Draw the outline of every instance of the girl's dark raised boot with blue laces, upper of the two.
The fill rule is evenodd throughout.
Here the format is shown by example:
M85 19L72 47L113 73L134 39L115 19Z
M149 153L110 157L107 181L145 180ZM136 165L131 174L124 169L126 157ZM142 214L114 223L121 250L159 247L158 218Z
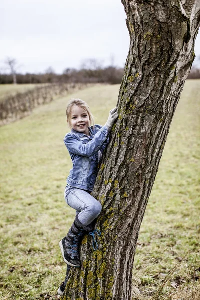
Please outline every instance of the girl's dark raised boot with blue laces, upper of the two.
M85 226L76 216L67 236L65 236L59 242L60 250L65 263L71 266L80 267L78 246L82 241L83 236L87 232L91 231L92 228L93 223Z

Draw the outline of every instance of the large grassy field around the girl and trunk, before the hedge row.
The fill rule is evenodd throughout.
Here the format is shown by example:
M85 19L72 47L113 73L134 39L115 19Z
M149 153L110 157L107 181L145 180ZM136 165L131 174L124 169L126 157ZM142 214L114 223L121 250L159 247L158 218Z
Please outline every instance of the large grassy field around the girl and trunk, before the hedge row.
M82 98L104 124L118 91L76 91L0 127L0 299L57 298L66 269L58 243L75 216L63 198L71 168L65 106ZM200 298L199 94L200 81L187 80L141 225L133 299Z

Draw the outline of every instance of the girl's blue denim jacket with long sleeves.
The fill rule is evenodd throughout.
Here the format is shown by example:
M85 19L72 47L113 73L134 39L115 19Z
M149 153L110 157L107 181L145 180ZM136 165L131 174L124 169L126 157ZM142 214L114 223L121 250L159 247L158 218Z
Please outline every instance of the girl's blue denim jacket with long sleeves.
M64 137L73 168L66 181L68 185L92 191L98 172L98 163L109 142L108 128L95 125L89 127L90 136L72 129Z

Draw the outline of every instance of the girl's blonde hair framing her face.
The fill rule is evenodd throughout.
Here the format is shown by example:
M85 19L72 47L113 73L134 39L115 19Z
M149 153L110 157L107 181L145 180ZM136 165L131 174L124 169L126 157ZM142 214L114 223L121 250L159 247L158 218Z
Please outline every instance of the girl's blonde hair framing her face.
M93 115L92 115L87 103L81 99L71 99L66 106L66 117L67 117L67 123L68 123L69 127L71 128L71 111L72 111L73 106L75 106L75 105L84 109L88 113L90 124L92 123L94 125Z

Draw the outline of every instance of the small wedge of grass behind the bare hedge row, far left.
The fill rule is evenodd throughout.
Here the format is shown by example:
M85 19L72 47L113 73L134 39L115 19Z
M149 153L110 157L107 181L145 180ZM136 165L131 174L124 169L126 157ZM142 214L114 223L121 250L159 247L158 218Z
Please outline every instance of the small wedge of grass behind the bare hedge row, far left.
M18 92L25 92L38 84L0 84L0 100L4 99L6 96L15 95ZM41 84L39 84L41 86Z

